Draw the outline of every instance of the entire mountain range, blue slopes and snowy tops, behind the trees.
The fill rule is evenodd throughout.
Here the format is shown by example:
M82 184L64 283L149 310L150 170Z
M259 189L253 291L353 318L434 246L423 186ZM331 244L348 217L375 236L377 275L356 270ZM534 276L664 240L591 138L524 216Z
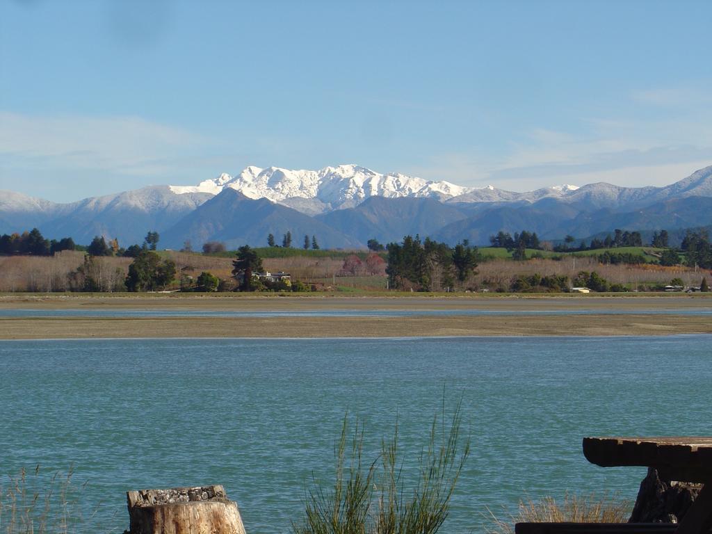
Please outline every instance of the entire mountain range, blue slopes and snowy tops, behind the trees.
M37 227L46 237L87 244L96 235L127 246L158 231L160 246L223 241L230 248L317 236L320 246L356 248L368 239L406 234L451 244L488 244L498 231L535 231L541 239L584 238L624 230L652 231L712 224L712 166L666 187L604 182L533 192L461 187L357 165L318 171L247 167L197 186L152 186L57 204L0 192L0 234Z

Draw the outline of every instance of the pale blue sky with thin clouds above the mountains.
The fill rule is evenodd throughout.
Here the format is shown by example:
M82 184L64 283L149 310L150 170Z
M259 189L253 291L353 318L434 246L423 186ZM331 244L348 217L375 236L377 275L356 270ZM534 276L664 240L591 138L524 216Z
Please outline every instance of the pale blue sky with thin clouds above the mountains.
M0 0L0 189L247 165L525 191L712 164L712 2Z

